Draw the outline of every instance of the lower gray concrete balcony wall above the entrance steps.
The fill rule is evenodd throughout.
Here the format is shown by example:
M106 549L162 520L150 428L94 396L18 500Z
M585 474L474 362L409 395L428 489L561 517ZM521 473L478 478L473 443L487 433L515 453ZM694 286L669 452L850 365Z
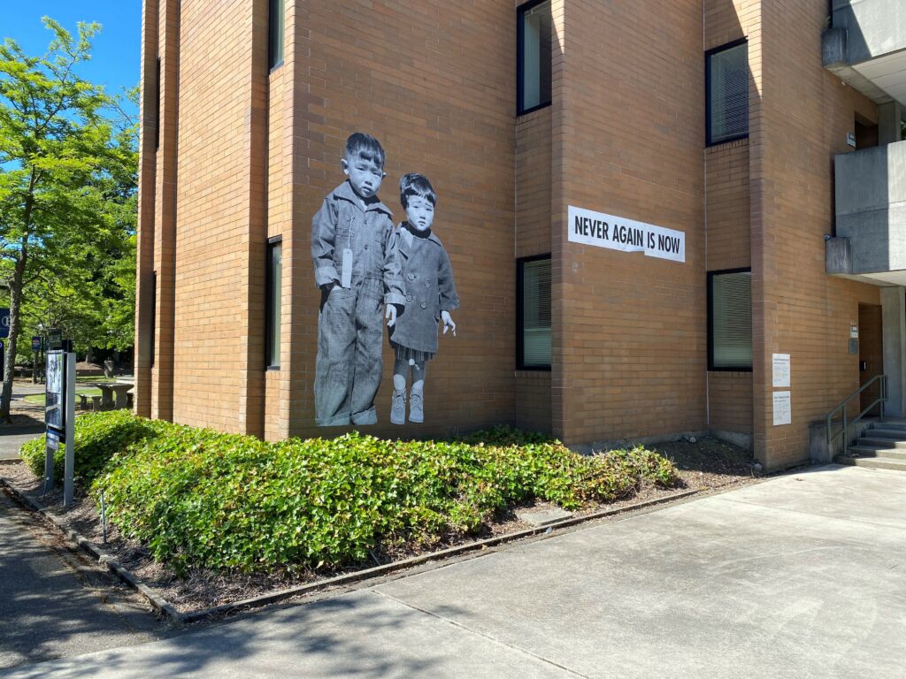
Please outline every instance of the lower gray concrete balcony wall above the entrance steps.
M852 273L906 270L906 141L834 158L836 235Z

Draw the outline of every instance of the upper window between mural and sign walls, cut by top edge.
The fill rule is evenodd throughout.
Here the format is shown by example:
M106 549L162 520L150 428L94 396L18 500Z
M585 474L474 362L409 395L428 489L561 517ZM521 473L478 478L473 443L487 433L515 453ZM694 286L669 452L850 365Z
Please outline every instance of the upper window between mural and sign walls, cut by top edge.
M518 114L551 103L551 0L518 9Z

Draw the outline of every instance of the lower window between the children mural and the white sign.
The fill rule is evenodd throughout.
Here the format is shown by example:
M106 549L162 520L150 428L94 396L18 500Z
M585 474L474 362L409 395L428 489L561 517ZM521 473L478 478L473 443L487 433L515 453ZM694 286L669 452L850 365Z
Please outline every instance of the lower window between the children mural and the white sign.
M551 256L516 262L516 368L551 369Z

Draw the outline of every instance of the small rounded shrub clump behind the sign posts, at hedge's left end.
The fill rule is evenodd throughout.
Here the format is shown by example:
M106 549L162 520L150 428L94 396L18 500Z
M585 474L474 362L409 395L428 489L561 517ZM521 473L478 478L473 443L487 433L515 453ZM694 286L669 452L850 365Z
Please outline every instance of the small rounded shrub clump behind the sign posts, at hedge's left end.
M161 423L134 416L129 410L111 410L103 413L88 413L79 416L75 426L74 462L75 481L88 485L101 473L113 454L125 450L129 445L156 435ZM29 469L38 476L44 473L44 436L25 442L19 449ZM53 454L53 477L63 478L65 446Z

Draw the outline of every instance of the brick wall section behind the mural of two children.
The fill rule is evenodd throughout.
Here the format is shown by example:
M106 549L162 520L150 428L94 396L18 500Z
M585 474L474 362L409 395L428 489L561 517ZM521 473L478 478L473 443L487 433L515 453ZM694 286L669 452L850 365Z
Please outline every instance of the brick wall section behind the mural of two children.
M298 0L294 18L294 240L291 260L291 435L313 426L318 292L311 219L343 179L340 158L356 130L381 140L381 199L404 215L398 182L426 174L438 192L435 232L453 265L462 309L458 337L440 339L425 385L426 423L390 426L392 355L384 352L378 435L437 435L512 422L516 333L513 5L431 0L382 5ZM439 21L438 17L446 17Z

